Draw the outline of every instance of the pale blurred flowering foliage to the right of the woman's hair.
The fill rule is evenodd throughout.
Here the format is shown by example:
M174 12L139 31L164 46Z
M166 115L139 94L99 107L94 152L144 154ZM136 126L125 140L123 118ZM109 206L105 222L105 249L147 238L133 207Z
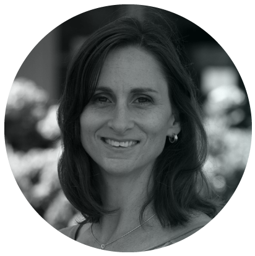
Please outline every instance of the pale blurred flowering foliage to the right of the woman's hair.
M209 137L204 170L226 202L243 177L251 149L251 115L245 111L249 101L243 89L236 84L223 84L211 90L204 102Z

